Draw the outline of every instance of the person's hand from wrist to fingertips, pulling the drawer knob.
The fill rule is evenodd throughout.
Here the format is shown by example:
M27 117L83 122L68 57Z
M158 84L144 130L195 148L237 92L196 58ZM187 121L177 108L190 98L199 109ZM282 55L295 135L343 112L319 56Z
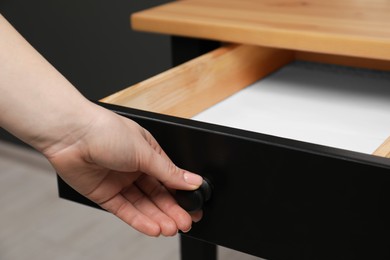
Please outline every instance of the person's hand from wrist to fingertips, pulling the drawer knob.
M202 212L191 219L170 189L196 189L202 178L176 167L135 122L100 107L94 111L93 122L43 151L61 178L144 234L190 230Z

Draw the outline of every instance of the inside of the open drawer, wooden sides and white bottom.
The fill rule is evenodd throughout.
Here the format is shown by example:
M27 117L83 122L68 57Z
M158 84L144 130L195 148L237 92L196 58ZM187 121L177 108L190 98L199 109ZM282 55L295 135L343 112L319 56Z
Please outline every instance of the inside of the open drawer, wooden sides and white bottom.
M382 60L229 45L101 101L387 157L389 70Z

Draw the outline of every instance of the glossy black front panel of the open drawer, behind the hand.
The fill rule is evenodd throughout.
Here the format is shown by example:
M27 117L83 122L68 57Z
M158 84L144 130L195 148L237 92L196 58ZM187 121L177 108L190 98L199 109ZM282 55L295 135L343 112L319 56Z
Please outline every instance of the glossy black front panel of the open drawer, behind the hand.
M388 159L101 105L137 121L179 167L212 181L213 197L189 236L267 259L390 257ZM59 189L82 202L61 181Z

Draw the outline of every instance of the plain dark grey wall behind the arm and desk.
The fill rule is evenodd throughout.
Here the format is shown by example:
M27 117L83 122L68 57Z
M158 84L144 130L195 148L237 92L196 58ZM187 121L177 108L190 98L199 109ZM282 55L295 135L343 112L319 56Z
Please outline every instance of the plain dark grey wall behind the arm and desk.
M3 0L0 12L81 93L97 100L171 66L169 37L135 32L129 19L165 2ZM15 142L5 131L0 139Z

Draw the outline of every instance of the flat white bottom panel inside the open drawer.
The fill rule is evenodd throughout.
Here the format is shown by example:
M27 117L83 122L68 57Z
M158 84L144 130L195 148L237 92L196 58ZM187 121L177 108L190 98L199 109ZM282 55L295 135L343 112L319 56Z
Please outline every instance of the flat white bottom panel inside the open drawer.
M372 154L390 135L390 73L294 62L193 119Z

